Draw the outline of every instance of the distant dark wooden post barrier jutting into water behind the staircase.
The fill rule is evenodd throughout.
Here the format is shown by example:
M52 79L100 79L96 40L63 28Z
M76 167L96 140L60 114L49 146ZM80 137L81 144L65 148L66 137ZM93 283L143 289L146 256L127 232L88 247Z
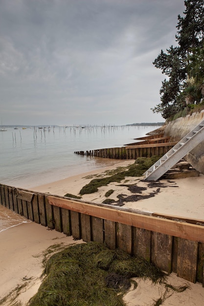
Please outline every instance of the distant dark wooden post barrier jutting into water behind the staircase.
M75 154L96 156L114 159L136 159L137 157L151 157L153 155L164 155L176 145L177 142L153 143L143 145L130 145L121 148L98 149L91 151L77 151Z

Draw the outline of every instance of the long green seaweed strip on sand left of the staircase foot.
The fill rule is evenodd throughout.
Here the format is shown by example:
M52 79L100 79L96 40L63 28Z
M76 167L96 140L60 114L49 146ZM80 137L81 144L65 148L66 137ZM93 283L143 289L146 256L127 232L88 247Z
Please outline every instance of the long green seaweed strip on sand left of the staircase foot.
M138 157L134 164L124 168L119 167L112 172L112 175L102 177L102 178L94 178L91 182L85 185L80 190L80 195L92 194L98 191L99 187L107 186L111 182L121 182L121 180L125 179L126 176L142 176L143 173L148 170L154 163L159 160L161 156L152 156L150 158L147 157ZM122 168L122 169L121 169Z

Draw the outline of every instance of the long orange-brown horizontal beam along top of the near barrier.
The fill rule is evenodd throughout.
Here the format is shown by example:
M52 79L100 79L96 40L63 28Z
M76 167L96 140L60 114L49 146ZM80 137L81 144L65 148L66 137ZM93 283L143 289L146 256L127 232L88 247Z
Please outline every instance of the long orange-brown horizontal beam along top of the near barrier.
M71 211L144 228L146 230L170 236L204 242L204 226L201 225L145 216L134 212L124 211L122 207L120 209L113 209L105 204L103 204L103 206L102 204L88 204L82 201L75 201L56 196L47 196L47 198L51 205L66 208Z

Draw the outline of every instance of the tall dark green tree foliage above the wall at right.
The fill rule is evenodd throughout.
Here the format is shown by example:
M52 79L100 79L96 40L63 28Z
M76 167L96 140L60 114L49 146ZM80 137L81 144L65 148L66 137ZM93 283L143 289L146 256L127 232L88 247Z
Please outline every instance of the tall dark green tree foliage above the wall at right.
M204 95L204 1L184 4L183 17L178 16L178 46L161 50L153 62L167 79L160 89L161 103L152 110L165 119Z

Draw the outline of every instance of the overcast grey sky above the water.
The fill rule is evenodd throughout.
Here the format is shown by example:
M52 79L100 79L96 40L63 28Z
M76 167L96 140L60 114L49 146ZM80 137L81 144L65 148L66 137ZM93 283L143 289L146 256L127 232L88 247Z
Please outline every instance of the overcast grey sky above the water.
M0 0L3 125L160 122L183 0Z

